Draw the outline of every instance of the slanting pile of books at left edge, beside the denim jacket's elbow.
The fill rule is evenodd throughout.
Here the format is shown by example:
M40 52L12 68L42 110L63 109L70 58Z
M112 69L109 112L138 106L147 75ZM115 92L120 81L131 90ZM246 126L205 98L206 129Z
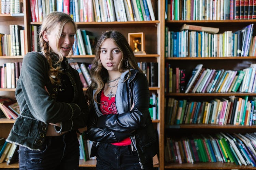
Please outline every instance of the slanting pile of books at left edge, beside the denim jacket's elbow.
M0 118L16 120L19 113L19 105L17 102L6 97L0 98Z

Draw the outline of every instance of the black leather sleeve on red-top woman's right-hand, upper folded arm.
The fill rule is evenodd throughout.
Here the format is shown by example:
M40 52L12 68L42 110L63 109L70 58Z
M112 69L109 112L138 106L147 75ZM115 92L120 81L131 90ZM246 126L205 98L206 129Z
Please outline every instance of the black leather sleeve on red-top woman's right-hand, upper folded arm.
M133 109L117 115L100 116L97 122L99 128L118 132L132 132L140 127L145 127L146 119L149 116L150 96L148 82L143 73L136 74L130 89L132 89Z

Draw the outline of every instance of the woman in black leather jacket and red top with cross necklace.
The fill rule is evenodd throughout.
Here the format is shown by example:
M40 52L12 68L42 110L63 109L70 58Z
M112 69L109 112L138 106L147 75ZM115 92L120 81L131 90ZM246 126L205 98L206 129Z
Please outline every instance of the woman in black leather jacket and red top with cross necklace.
M147 78L117 31L103 33L95 54L87 136L94 141L90 156L97 157L96 169L151 170L158 147Z

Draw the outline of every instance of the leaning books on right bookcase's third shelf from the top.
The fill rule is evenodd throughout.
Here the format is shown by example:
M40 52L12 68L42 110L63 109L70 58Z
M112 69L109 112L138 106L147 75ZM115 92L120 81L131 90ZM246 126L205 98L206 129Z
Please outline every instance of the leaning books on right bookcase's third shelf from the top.
M255 92L256 65L243 70L205 69L199 64L192 71L185 93Z

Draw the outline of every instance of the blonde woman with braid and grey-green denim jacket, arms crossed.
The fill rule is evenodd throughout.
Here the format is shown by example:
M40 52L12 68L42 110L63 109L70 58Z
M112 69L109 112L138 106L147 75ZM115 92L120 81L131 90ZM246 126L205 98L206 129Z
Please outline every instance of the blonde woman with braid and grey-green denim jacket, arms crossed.
M40 28L41 53L25 55L15 97L20 115L7 141L19 145L20 170L73 170L79 166L76 131L87 124L88 106L79 74L67 61L76 24L61 12Z

